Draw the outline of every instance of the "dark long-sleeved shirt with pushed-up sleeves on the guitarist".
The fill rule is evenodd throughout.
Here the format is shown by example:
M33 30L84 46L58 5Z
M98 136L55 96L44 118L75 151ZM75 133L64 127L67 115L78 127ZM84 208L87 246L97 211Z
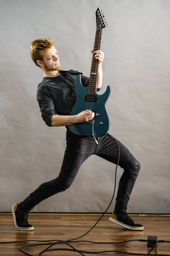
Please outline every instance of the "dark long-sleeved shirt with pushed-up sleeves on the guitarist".
M52 126L53 115L70 115L77 102L75 79L79 72L76 70L61 70L59 72L60 76L44 77L37 88L37 101L41 116L48 126ZM89 78L87 76L82 75L81 81L83 86L88 86Z

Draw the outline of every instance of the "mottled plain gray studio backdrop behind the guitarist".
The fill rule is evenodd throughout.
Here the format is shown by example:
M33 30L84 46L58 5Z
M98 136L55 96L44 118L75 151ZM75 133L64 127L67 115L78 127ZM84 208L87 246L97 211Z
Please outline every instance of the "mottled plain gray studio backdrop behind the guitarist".
M98 6L108 22L100 93L111 86L110 134L141 163L128 212L170 212L169 0L0 0L0 212L57 177L65 151L65 127L48 127L41 117L43 73L30 42L50 37L62 69L89 76ZM103 212L114 174L115 165L92 156L70 189L34 212Z

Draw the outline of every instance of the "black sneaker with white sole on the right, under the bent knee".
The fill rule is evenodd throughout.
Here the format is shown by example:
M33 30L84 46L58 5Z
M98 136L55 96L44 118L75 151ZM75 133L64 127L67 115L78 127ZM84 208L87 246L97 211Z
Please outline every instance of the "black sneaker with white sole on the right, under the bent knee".
M117 213L113 211L111 217L109 218L109 221L112 221L129 230L144 229L144 226L142 226L141 224L135 224L134 221L129 217L127 213Z

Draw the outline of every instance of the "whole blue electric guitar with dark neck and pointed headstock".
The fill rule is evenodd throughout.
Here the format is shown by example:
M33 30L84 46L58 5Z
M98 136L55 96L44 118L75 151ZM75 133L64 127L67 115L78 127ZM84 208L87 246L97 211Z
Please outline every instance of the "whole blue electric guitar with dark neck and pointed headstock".
M105 16L98 8L96 10L96 35L94 41L94 51L100 49L102 29L106 28L107 26L104 17ZM109 117L105 105L108 97L110 96L111 87L108 85L105 93L102 95L98 95L96 93L98 64L99 60L96 60L93 54L88 87L82 86L81 75L76 77L75 87L77 92L77 102L70 113L70 115L73 116L86 109L90 109L95 113L95 116L88 122L75 123L68 126L71 132L74 134L81 136L93 136L94 139L95 137L106 134L110 127Z

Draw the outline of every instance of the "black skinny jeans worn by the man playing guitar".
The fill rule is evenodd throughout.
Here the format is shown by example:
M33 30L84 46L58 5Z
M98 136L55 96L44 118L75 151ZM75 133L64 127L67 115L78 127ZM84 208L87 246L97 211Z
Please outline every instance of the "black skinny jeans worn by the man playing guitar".
M99 143L98 145L93 137L82 137L67 131L67 146L58 177L42 183L20 204L20 209L28 213L41 201L68 189L73 183L82 163L92 154L116 164L119 156L116 142L107 134L102 137L96 137L96 140ZM124 172L119 181L115 210L126 212L130 194L139 174L140 163L122 143L118 140L116 141L120 147L119 166L124 169Z

